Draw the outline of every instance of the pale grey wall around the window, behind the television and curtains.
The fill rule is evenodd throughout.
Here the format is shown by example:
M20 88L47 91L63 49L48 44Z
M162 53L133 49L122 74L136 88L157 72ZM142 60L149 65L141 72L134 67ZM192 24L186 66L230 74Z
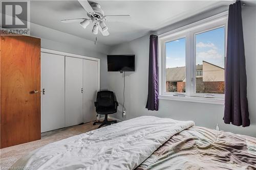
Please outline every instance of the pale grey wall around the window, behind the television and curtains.
M200 18L200 17L197 17ZM170 117L179 120L194 120L197 126L215 129L219 124L221 130L256 137L256 10L255 7L243 8L243 27L245 40L246 69L248 79L248 103L250 112L250 127L237 127L223 123L224 105L203 104L193 102L180 102L159 100L159 111L148 111L145 109L147 99L148 78L148 53L149 35L114 46L111 54L135 54L135 72L126 72L125 77L125 110L126 116L121 116L123 77L118 72L109 72L109 88L115 91L119 102L118 113L114 116L118 119L130 119L142 115L154 115L159 117ZM191 22L188 21L186 23ZM183 22L185 23L185 22ZM175 28L175 26L169 27ZM166 30L166 29L165 29ZM170 30L169 30L170 31ZM161 31L158 31L161 32Z

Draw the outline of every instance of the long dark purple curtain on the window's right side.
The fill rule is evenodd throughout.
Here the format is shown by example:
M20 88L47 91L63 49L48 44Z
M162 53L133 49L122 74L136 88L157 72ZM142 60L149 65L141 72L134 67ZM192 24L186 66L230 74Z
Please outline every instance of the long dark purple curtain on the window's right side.
M244 38L241 3L229 6L227 30L227 58L225 68L224 122L249 126L245 70Z

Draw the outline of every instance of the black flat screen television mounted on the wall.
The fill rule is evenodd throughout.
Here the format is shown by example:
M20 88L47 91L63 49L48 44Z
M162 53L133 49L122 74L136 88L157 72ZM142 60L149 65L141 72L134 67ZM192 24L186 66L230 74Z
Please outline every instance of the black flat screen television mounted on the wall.
M135 71L135 55L108 55L108 71Z

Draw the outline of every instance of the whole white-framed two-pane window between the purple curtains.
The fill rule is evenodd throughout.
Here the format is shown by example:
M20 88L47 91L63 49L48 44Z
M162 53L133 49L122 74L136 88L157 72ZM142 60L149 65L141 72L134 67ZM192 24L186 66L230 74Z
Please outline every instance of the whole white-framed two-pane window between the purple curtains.
M224 103L226 22L225 15L159 36L160 99Z

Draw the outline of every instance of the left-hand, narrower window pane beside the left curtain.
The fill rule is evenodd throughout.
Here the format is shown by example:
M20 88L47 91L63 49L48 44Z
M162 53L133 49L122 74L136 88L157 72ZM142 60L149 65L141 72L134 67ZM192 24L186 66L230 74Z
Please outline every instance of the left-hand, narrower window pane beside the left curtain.
M186 92L186 39L165 43L166 92Z

